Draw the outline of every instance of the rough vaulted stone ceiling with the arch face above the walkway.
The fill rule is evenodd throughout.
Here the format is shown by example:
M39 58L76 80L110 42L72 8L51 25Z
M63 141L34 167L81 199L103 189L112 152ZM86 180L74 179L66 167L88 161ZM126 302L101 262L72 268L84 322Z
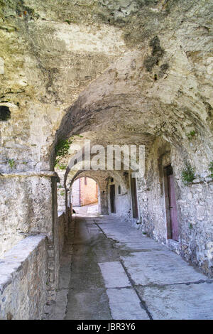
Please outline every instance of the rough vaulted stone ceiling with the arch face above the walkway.
M212 1L1 0L0 9L4 169L9 158L19 171L53 168L55 144L72 134L147 147L163 136L212 154Z

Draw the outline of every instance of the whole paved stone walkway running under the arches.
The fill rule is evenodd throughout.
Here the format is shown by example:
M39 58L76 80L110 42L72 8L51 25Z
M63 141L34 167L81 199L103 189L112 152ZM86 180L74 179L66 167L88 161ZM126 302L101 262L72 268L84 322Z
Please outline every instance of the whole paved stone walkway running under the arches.
M70 247L52 318L213 318L213 280L124 221L76 217Z

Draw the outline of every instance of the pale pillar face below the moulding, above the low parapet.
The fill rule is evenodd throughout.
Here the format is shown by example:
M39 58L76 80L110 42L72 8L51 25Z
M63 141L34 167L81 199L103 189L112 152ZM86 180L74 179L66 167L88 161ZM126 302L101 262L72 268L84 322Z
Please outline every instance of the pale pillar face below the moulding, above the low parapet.
M0 179L0 193L0 256L28 235L52 237L50 178L6 175Z

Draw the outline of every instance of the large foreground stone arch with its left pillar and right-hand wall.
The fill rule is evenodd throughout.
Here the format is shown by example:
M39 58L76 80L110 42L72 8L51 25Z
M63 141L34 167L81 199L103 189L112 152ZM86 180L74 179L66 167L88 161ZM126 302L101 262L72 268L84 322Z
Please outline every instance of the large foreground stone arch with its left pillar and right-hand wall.
M42 8L40 1L28 1L29 6L3 2L3 252L29 235L47 235L47 294L48 301L54 300L59 262L55 171L60 173L54 171L55 146L75 134L103 146L146 145L146 178L138 180L139 228L166 244L157 173L158 148L166 141L179 191L176 251L212 275L211 1L141 1L138 6L133 0L135 6L123 17L114 1L94 6L60 1L60 11L53 1L42 1ZM70 13L72 22L65 20ZM195 168L195 179L187 185L182 182L186 162Z

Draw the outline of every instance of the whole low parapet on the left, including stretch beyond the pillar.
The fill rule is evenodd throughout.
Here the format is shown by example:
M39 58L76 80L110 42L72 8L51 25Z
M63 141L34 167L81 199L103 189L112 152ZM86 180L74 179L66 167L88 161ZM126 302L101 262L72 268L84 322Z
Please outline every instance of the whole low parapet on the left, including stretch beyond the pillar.
M58 288L66 224L62 212L55 224L54 243L47 235L26 237L0 259L0 319L43 317Z

